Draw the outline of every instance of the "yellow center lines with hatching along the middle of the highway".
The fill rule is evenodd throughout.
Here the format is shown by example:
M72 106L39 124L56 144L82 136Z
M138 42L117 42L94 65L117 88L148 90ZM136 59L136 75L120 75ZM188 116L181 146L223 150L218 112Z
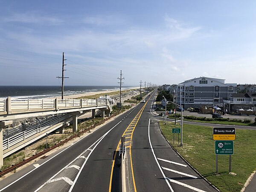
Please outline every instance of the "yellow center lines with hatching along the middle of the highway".
M128 125L128 127L125 129L124 133L122 134L122 137L125 137L125 148L130 148L130 158L131 158L131 141L132 141L133 132L134 132L134 129L135 129L135 127L136 127L136 125L137 125L137 123L140 119L140 116L141 116L147 102L145 103L143 108L139 111L139 113L135 116L135 118L131 121L130 125ZM121 145L121 139L119 140L119 143L116 147L116 151L118 151L120 149L120 145ZM109 183L109 189L108 189L109 192L111 192L113 169L114 169L114 165L115 165L116 154L117 154L117 152L114 155L114 159L113 159L113 163L112 163L110 183ZM131 173L132 173L132 180L133 180L133 183L134 183L134 191L137 192L136 185L135 185L135 180L134 180L132 160L131 160Z

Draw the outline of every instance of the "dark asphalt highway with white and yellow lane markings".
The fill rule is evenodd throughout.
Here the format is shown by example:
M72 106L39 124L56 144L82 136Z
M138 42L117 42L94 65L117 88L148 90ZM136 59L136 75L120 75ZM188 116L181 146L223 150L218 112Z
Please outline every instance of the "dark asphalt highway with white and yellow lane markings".
M128 191L216 191L163 138L151 113L153 98L154 94L87 137L3 178L0 192L121 191L115 151L124 135Z

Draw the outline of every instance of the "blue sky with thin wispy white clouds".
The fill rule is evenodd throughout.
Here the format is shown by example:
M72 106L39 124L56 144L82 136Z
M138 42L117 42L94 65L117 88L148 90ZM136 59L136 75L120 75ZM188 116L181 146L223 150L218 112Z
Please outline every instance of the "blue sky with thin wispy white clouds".
M0 85L256 84L255 0L2 0Z

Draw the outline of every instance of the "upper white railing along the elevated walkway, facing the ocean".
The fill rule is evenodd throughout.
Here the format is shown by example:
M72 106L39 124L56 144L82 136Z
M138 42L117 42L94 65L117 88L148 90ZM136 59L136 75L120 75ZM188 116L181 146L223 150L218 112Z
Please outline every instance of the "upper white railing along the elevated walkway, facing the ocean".
M108 105L106 99L0 99L0 113ZM110 106L110 105L109 105Z

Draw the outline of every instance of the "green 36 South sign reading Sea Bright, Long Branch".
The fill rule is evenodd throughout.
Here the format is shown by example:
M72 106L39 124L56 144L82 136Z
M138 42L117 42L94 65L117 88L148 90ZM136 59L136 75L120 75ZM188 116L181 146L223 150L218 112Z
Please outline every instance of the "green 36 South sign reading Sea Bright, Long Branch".
M215 141L215 154L234 154L234 142Z

